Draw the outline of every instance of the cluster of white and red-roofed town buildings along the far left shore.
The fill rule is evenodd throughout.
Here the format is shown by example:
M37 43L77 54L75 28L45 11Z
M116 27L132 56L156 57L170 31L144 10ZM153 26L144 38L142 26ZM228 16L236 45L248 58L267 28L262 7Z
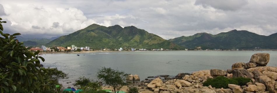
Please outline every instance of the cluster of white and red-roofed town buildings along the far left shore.
M41 47L32 47L31 49L29 49L30 51L46 51L46 52L52 52L55 51L55 49L58 49L61 52L64 51L77 51L77 49L80 49L81 51L90 51L90 47L76 47L75 45L71 45L71 47L57 47L57 46L53 46L53 47L45 47L45 46L41 46Z

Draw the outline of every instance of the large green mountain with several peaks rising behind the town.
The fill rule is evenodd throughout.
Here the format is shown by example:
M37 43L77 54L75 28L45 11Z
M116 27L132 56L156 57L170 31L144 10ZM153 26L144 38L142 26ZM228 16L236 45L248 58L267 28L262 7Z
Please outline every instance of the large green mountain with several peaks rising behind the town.
M61 36L46 46L71 46L93 48L144 48L144 49L180 49L181 47L158 35L148 33L135 26L122 28L115 26L100 26L92 24L84 29Z

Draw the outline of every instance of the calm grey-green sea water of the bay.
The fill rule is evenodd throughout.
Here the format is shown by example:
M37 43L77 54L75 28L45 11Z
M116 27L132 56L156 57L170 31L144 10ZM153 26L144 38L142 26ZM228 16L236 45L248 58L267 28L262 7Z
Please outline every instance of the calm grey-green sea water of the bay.
M254 53L269 53L267 66L277 66L277 51L132 51L91 52L76 54L43 54L45 67L55 68L69 74L62 80L71 86L80 76L97 80L97 70L111 67L129 74L138 74L141 80L148 76L192 73L204 69L231 69L235 62L249 62ZM66 84L66 82L72 82Z

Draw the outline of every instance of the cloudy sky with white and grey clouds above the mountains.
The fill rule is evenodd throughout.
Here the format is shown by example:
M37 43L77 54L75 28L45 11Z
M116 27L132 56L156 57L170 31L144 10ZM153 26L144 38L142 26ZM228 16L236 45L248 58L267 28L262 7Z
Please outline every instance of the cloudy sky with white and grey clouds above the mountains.
M276 0L0 0L4 33L50 38L90 24L136 26L168 40L233 29L277 33Z

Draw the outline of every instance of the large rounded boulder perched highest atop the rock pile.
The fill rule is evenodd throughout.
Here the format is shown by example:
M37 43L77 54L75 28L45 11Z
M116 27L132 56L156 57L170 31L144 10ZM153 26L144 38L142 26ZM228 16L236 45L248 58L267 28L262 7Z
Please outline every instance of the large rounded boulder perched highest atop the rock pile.
M255 53L251 56L250 62L260 66L266 66L269 62L269 53Z

